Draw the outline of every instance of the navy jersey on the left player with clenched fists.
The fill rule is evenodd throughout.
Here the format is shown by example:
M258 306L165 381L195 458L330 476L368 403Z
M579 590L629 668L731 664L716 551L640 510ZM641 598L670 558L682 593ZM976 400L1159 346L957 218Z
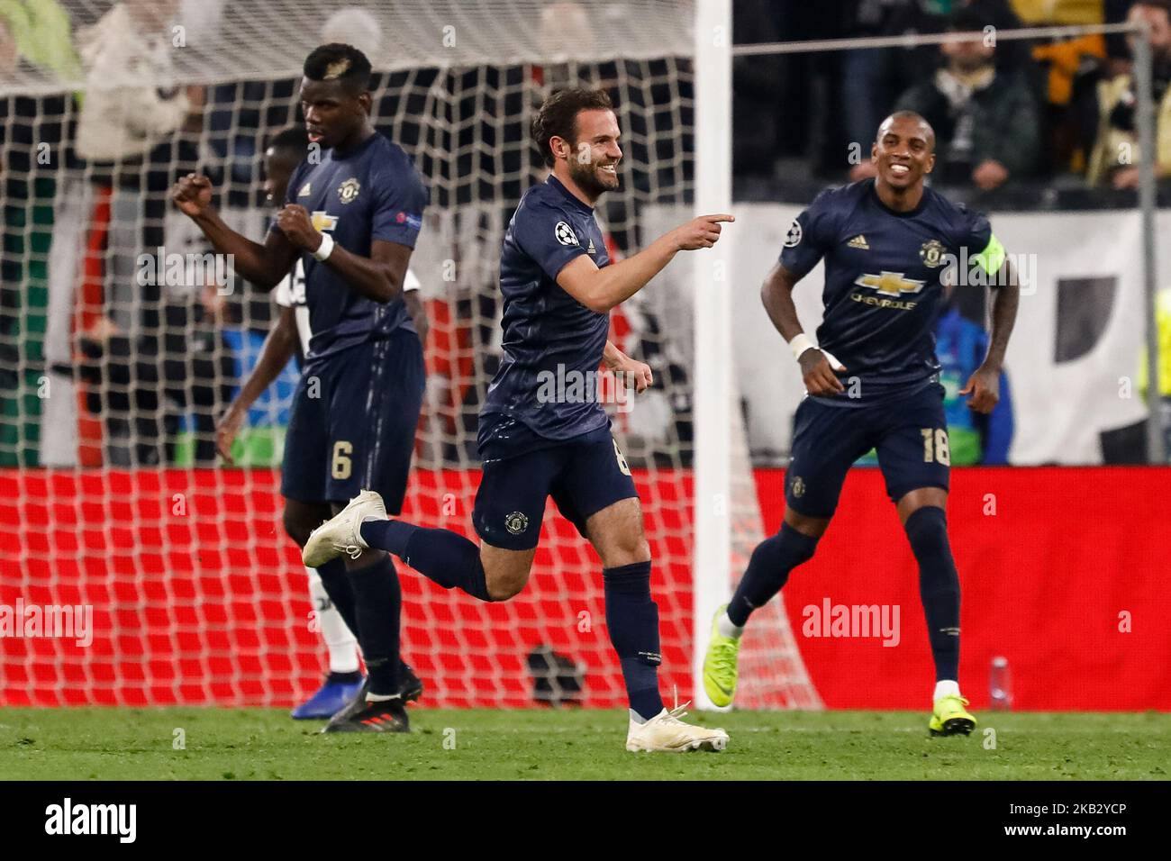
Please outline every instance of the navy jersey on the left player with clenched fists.
M375 132L344 156L328 149L320 164L308 159L299 164L285 203L304 206L319 232L328 232L345 251L369 258L376 239L415 247L427 191L410 157ZM376 302L351 289L336 269L309 252L301 254L301 262L314 358L388 337L396 329L415 330L402 298Z

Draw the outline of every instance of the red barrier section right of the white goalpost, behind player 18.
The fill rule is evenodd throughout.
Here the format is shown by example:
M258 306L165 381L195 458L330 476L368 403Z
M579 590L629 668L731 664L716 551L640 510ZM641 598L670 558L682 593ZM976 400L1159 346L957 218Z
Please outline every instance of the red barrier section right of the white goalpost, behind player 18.
M783 474L756 473L771 531L783 513ZM974 708L988 708L989 665L1001 655L1015 709L1171 710L1171 470L957 469L947 522L963 590L959 681ZM827 599L898 606L899 644L802 635L814 620L804 608ZM850 471L785 600L828 708L930 708L918 566L877 469Z

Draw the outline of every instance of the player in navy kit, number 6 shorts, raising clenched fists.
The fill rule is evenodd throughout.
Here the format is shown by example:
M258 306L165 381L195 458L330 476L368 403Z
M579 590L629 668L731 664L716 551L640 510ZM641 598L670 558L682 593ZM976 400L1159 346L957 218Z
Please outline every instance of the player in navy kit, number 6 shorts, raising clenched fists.
M427 193L411 159L370 123L370 61L324 45L304 61L301 107L310 151L289 178L285 206L263 245L227 227L211 182L189 175L173 192L235 271L272 288L304 266L313 339L285 442L285 527L304 545L313 527L363 487L392 511L406 492L423 403L423 349L403 301ZM363 696L326 732L406 732L398 656L402 595L385 553L311 566L335 606L352 595L365 658ZM344 615L344 613L343 613Z

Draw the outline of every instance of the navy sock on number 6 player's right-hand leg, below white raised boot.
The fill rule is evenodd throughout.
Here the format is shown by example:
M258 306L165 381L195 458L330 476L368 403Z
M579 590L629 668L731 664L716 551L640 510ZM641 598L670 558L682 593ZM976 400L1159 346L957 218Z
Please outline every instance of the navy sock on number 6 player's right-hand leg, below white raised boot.
M370 678L370 693L395 696L399 685L398 624L403 602L395 561L383 556L348 574L354 587L358 643Z

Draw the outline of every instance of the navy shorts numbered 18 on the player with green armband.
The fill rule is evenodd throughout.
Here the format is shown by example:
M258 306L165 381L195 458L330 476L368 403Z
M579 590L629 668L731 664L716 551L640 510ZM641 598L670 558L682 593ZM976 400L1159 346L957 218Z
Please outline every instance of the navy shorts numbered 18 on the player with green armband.
M919 487L947 490L944 387L932 382L912 395L865 406L830 406L806 397L794 421L785 501L799 514L830 517L847 471L871 449L891 501Z

